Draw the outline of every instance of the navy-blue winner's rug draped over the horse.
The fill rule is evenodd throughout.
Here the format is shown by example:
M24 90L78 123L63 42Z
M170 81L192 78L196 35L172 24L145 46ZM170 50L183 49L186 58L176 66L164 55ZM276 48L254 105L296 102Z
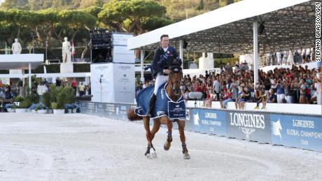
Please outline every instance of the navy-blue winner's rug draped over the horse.
M153 108L151 118L162 116L169 117L169 120L186 120L186 104L181 94L178 101L172 101L169 98L165 87L167 82L158 89L157 99ZM148 104L154 91L154 86L146 87L137 95L137 108L135 113L139 116L145 116L148 113Z

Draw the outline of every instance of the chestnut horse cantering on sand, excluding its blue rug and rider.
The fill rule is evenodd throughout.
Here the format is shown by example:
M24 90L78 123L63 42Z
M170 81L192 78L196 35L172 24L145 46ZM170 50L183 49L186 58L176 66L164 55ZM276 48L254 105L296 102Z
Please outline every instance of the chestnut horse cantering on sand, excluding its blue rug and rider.
M174 68L179 68L180 71L174 73ZM170 99L173 101L178 101L181 98L181 79L183 77L182 69L181 67L170 67L169 68L170 74L169 74L169 79L167 82L167 86L165 87L167 91L167 95L169 96ZM135 120L143 120L144 122L144 128L146 129L146 139L148 140L148 147L146 149L146 157L147 158L156 158L157 155L155 153L155 148L153 147L152 140L155 136L155 133L157 133L160 129L161 124L167 124L168 127L168 135L167 135L167 140L165 141L164 149L167 151L171 147L171 142L172 142L172 121L169 120L167 116L162 116L158 118L154 118L154 124L153 124L153 129L150 130L150 117L148 116L139 116L136 113L134 113L134 109L128 110L127 111L127 117L129 118L130 121L135 121ZM182 153L183 153L183 159L190 159L190 155L188 154L188 149L186 146L186 136L185 136L185 125L186 121L185 120L175 120L175 122L179 126L179 133L180 133L180 140L182 143Z

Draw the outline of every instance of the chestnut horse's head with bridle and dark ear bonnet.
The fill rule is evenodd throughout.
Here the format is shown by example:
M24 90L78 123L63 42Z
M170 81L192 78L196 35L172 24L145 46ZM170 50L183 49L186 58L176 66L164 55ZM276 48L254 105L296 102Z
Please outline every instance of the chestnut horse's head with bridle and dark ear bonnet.
M181 66L170 66L171 70L169 74L169 84L174 91L174 95L179 96L181 94L181 79L182 79L182 68Z

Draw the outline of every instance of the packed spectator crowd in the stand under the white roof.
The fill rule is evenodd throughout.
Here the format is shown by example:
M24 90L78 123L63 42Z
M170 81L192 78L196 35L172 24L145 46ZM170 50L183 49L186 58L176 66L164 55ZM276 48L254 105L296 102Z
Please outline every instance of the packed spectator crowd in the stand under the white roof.
M220 101L222 108L228 102L235 102L236 108L244 109L244 103L301 103L321 104L320 69L308 69L307 66L292 68L275 68L265 73L258 72L258 83L254 85L254 73L247 63L227 64L220 73L206 71L204 75L184 75L181 91L186 100L190 92L202 93L204 106L211 107L212 101ZM137 94L142 89L153 85L153 81L139 82Z

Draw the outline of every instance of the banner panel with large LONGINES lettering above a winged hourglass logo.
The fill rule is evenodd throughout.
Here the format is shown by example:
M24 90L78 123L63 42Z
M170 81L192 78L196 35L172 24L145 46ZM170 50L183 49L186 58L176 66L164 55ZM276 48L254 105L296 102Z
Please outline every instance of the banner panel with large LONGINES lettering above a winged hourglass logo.
M261 112L226 111L227 136L260 143L272 143L269 114Z

